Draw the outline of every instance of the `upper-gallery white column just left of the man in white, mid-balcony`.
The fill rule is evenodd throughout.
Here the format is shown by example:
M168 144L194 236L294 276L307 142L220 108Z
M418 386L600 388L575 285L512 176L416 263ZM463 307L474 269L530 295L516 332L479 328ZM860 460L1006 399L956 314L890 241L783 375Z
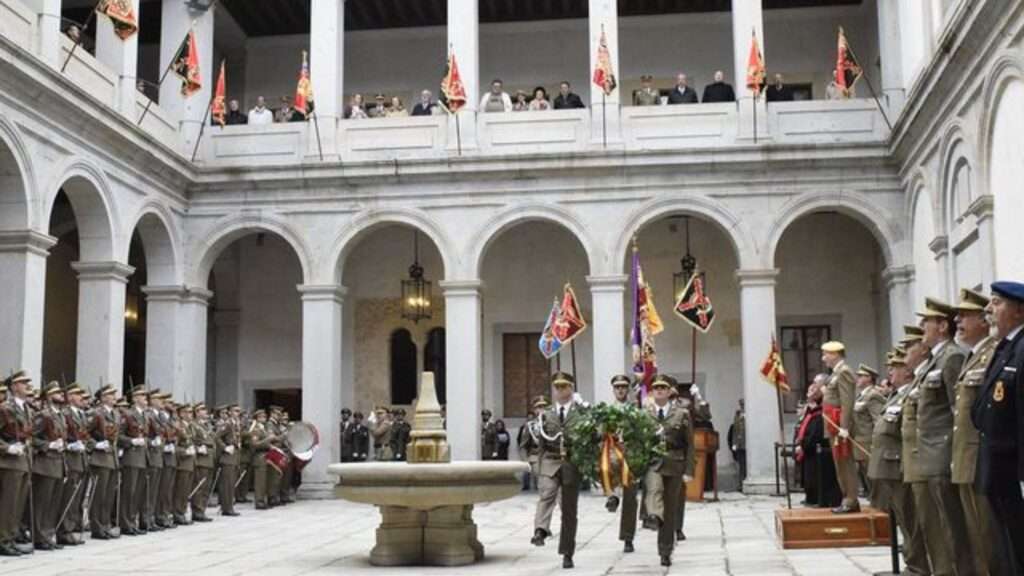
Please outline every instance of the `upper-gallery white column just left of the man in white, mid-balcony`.
M459 123L449 117L449 150L459 146L456 129L461 134L462 150L476 149L476 105L480 92L480 10L479 0L447 0L449 51L455 52L466 88L466 106L459 112ZM447 54L445 53L445 58ZM489 86L489 84L488 84Z

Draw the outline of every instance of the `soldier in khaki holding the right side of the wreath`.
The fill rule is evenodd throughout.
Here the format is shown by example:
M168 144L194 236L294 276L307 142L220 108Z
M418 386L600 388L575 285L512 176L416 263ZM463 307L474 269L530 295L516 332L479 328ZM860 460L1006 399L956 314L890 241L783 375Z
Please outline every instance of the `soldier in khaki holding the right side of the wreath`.
M676 546L676 515L686 474L689 440L693 422L689 410L669 400L672 382L659 374L651 382L653 403L648 413L658 424L658 436L665 444L665 456L655 461L644 478L647 513L657 525L657 552L662 566L672 566Z

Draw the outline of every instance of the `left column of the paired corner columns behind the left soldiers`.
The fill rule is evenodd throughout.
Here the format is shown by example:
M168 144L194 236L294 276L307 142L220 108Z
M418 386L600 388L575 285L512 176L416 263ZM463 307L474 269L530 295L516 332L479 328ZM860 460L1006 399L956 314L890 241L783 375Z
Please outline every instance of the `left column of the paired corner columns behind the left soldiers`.
M180 398L178 315L188 292L184 286L143 286L145 294L145 382ZM180 394L179 394L180 393Z

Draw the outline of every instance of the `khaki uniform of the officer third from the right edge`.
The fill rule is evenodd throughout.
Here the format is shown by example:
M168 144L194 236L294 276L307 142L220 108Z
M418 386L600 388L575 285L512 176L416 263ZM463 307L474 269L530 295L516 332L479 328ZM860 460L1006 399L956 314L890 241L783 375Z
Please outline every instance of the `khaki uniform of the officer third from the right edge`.
M918 402L918 464L927 479L931 505L940 520L926 524L925 530L938 533L931 538L943 539L946 549L952 553L958 575L974 571L967 519L950 477L952 407L956 399L956 379L966 358L964 349L952 340L942 344L923 373Z

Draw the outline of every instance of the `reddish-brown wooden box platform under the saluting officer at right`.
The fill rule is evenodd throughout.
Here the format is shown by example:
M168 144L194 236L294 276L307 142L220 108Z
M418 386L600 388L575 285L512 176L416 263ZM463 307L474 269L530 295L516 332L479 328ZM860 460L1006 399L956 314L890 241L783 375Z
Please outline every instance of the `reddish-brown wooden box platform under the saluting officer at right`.
M827 508L775 511L775 536L783 548L888 546L889 515L874 508L834 515Z

